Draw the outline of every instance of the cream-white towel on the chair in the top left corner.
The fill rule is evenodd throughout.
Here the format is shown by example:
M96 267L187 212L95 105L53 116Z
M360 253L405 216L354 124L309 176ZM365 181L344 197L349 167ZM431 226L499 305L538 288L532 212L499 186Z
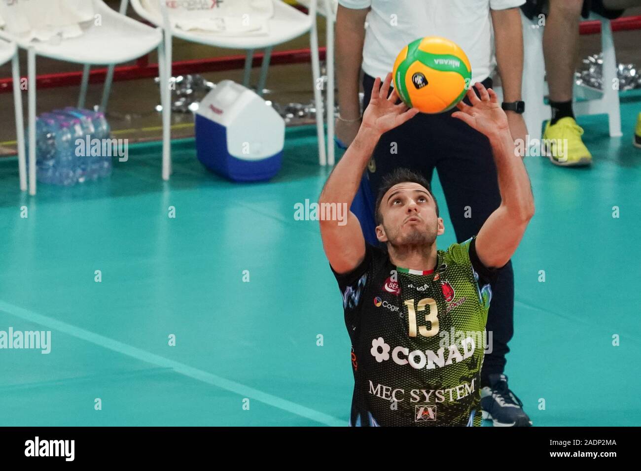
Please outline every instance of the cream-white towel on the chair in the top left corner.
M26 40L76 37L79 23L93 19L92 0L0 0L0 26Z

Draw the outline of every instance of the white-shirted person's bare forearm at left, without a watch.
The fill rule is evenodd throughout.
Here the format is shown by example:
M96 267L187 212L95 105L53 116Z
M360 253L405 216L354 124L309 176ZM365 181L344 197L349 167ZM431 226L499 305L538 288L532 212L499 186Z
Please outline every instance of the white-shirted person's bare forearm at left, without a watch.
M368 10L353 10L338 5L336 18L336 67L338 106L343 119L360 116L360 68L365 41L365 17Z

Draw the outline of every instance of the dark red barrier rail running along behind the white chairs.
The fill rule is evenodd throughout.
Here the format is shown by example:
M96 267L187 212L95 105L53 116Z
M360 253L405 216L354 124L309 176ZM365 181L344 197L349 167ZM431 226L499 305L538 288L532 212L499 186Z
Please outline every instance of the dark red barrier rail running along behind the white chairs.
M641 29L641 15L633 17L622 17L612 21L613 31L629 31ZM601 32L600 21L581 22L579 31L582 35L592 35ZM325 48L320 48L320 59L325 58ZM253 67L259 67L262 63L263 54L254 54ZM292 63L306 63L311 61L310 49L294 49L290 51L279 51L272 53L271 64L283 65ZM226 56L211 59L184 60L172 63L172 74L174 76L185 74L199 74L203 72L220 72L223 70L242 69L245 64L245 56ZM103 83L107 69L95 69L90 72L90 83ZM136 65L124 65L116 67L113 74L113 81L135 80L140 78L151 78L158 76L158 64L150 64L148 56L138 59ZM79 85L82 78L81 71L60 72L57 74L38 75L38 88L70 87ZM11 78L0 79L0 93L12 92L13 81Z

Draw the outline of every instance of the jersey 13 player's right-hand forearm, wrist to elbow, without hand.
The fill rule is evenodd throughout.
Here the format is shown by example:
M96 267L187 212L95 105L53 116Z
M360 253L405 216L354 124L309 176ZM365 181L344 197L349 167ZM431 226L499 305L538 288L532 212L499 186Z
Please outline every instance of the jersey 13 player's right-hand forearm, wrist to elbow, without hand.
M523 160L515 153L508 131L490 136L501 192L501 207L512 217L529 220L534 213L534 197Z

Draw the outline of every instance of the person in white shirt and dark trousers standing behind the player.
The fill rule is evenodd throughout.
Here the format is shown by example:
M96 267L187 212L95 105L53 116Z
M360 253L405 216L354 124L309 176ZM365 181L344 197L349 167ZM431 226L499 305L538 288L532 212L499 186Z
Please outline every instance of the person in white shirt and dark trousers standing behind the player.
M362 122L360 110L367 108L374 80L385 78L392 71L403 47L426 36L445 37L462 47L472 65L472 85L481 82L485 88L491 88L490 75L498 67L510 133L514 140L525 140L519 12L524 1L338 0L338 144L347 147L358 133ZM365 91L362 104L361 68ZM352 206L370 244L378 244L372 195L378 193L383 178L399 167L422 174L428 181L437 169L457 242L478 233L501 203L490 143L481 133L454 119L454 111L438 115L419 113L381 136ZM492 352L485 355L481 371L483 416L492 418L496 426L529 426L531 421L522 403L509 390L503 374L508 342L513 335L511 261L492 283L492 292L487 322L487 331L492 332Z

